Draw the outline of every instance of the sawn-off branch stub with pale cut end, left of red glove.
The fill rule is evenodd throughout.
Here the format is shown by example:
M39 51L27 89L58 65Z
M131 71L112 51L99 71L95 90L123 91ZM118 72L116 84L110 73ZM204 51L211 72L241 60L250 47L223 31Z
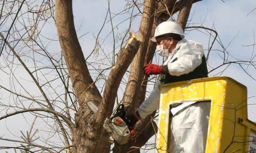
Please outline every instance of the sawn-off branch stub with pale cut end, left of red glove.
M137 53L141 43L141 38L131 31L125 47L120 49L116 64L110 71L108 80L106 81L102 104L97 112L98 117L96 123L98 125L102 126L106 117L111 115L120 82L124 76L124 73L132 62L132 59Z

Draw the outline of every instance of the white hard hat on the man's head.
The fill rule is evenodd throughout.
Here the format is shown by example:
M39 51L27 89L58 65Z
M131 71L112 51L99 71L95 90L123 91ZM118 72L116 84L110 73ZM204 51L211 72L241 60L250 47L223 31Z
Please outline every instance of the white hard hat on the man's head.
M162 22L161 24L159 24L156 27L154 37L152 37L151 40L156 42L157 36L164 35L166 33L176 33L176 34L180 35L180 37L182 39L184 39L184 37L185 37L182 27L179 24L177 24L176 22L172 22L172 21L166 21L166 22Z

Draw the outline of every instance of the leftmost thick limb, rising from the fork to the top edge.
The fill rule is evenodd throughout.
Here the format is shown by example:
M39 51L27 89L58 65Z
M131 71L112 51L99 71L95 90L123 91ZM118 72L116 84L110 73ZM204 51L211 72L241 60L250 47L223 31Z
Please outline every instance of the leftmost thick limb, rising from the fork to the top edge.
M56 0L56 27L60 47L68 67L72 86L79 99L79 105L81 106L83 102L89 100L95 101L98 105L101 95L93 84L76 35L71 0Z

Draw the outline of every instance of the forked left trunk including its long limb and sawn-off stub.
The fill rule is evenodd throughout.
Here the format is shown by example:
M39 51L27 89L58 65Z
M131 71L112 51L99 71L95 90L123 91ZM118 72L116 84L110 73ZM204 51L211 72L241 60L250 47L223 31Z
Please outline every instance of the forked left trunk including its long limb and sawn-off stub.
M128 43L120 50L120 58L110 72L102 98L90 76L76 35L72 1L56 0L55 7L60 46L80 106L75 116L72 143L76 147L72 148L72 152L108 153L110 151L109 135L103 130L103 122L112 112L120 81L136 55L141 41L139 37L131 33ZM88 101L100 106L96 114L88 108L86 104Z

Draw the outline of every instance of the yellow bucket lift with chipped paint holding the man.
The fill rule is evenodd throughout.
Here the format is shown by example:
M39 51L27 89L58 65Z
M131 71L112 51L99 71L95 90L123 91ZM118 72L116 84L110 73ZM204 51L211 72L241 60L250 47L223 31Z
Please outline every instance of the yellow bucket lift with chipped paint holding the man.
M256 153L256 124L247 116L247 88L229 77L160 85L157 149L168 153L170 105L211 101L206 153ZM168 143L169 142L169 143Z

